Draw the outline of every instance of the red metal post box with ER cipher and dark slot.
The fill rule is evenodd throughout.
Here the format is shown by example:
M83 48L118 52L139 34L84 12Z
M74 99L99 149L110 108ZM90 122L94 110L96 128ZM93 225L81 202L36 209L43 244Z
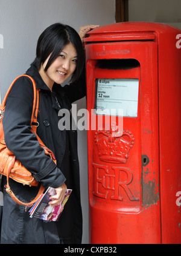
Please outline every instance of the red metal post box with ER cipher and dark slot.
M122 133L98 123L88 130L90 243L181 242L179 33L122 22L85 39L89 113L96 79L139 79L138 116L123 117ZM97 118L92 112L89 126Z

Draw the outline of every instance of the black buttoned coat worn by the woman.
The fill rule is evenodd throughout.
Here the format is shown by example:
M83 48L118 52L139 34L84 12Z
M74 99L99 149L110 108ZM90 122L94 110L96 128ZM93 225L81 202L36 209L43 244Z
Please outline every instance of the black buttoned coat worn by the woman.
M3 119L5 142L44 188L57 188L65 182L68 188L72 189L72 194L59 222L48 223L30 218L28 211L25 212L25 206L16 205L4 192L1 243L81 243L77 131L60 131L58 123L62 118L60 109L71 110L71 103L85 96L85 77L83 74L77 82L65 87L54 84L51 92L36 67L31 66L27 74L33 77L37 88L40 89L37 134L56 156L57 165L45 156L44 149L39 146L36 136L30 131L33 86L27 77L16 81L7 98ZM5 178L2 183L5 184ZM23 186L13 180L10 180L10 186L12 191L17 193L17 197L26 202L31 200L38 190L37 187Z

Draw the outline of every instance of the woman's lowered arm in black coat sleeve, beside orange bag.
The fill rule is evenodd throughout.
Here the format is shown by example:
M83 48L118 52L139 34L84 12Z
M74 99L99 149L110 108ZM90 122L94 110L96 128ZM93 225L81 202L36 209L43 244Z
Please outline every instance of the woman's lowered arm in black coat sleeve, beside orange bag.
M16 158L46 188L57 188L65 177L56 164L45 155L36 135L30 131L33 106L33 85L28 77L20 77L7 98L3 118L5 143Z

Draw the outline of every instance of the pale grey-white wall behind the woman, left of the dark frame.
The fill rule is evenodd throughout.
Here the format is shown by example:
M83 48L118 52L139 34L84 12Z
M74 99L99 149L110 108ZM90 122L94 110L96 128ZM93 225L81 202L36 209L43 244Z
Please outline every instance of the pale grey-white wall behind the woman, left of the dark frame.
M25 73L34 60L40 33L55 22L71 25L77 31L81 25L114 23L115 0L0 0L1 100L11 81ZM79 100L78 109L85 107L86 100ZM89 243L86 131L78 132L78 153L83 243Z

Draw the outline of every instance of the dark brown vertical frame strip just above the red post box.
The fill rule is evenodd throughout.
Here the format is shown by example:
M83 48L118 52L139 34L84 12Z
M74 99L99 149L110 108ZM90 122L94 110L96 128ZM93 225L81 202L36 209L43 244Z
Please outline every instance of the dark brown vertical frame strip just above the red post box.
M129 21L129 0L116 0L116 22Z

